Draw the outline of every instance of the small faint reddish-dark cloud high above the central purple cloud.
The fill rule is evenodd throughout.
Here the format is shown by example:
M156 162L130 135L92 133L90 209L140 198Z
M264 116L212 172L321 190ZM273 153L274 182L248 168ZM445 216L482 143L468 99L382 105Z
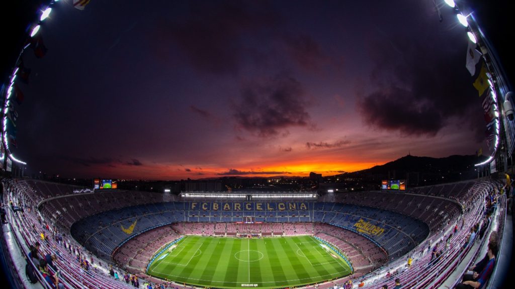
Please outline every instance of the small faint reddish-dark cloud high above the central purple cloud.
M305 69L317 69L327 59L320 45L310 35L287 36L284 42L289 56Z

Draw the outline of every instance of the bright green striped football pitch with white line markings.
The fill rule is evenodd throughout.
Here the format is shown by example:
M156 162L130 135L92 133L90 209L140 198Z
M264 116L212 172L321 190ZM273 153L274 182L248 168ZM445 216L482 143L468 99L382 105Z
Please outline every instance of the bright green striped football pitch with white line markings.
M150 264L149 275L218 288L299 286L351 273L311 236L236 239L186 236Z

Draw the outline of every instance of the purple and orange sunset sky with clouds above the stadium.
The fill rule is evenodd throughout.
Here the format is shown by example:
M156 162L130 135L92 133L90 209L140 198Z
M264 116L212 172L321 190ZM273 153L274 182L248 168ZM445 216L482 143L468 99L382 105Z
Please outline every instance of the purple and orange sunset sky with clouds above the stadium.
M433 1L60 3L16 108L27 172L323 175L486 151L468 38Z

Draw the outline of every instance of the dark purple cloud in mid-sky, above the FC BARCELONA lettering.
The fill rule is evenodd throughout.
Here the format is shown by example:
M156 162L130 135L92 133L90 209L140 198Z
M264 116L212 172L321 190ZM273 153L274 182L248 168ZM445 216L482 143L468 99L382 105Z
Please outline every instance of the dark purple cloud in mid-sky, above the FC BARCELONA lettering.
M287 136L288 127L311 125L307 105L302 85L292 77L278 76L244 85L241 101L233 105L233 116L237 128L260 137Z

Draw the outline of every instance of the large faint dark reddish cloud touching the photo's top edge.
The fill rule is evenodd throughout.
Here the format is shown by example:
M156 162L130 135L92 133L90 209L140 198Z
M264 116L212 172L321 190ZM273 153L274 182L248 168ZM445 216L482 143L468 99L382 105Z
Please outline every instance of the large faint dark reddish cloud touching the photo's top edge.
M245 50L246 35L277 23L267 3L188 2L188 12L167 25L192 64L209 73L234 73Z

